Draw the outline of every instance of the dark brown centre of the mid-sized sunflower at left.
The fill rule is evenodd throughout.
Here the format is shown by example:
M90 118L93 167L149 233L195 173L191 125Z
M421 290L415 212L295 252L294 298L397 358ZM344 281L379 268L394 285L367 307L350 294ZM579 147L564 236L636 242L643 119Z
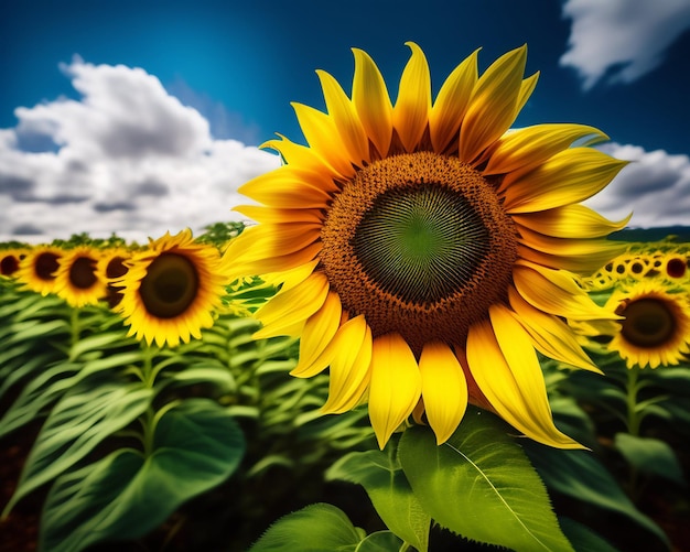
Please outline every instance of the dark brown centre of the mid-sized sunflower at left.
M149 314L174 318L194 302L198 291L198 274L184 256L162 253L157 257L141 281L139 294Z

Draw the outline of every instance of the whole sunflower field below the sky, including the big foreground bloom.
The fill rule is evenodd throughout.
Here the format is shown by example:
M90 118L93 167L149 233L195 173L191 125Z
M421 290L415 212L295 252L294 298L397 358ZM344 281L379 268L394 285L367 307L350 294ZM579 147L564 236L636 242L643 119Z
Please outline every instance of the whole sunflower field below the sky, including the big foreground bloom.
M690 243L478 51L295 104L242 223L0 247L0 550L690 550ZM611 237L611 235L613 238Z

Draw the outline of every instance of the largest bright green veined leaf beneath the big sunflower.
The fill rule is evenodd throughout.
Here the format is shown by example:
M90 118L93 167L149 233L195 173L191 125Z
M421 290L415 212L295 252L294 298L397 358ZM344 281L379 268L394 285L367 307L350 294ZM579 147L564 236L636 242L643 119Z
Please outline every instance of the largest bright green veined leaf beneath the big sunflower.
M451 531L514 550L573 550L539 475L496 416L468 409L441 446L429 427L411 427L399 455L414 495Z

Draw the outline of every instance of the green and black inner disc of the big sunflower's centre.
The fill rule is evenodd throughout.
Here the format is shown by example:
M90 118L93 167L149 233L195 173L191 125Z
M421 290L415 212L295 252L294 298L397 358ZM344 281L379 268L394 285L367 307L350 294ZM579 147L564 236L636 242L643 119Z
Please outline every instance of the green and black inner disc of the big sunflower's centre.
M422 184L379 195L362 217L353 247L381 290L431 304L471 281L488 252L488 230L461 193Z

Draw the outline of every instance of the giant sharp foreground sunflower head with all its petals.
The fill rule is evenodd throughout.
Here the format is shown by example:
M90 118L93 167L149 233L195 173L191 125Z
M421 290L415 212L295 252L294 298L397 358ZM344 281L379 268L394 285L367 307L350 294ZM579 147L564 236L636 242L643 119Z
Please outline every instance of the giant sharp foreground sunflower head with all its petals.
M625 163L584 145L606 139L592 127L509 131L537 83L526 47L481 76L474 52L432 101L424 54L408 46L395 106L360 50L351 97L317 72L327 112L293 104L309 145L265 144L284 164L240 188L262 205L237 210L259 224L224 262L282 282L258 335L300 336L292 374L330 367L324 411L367 401L379 446L422 409L442 443L470 401L578 447L553 424L536 350L597 371L560 317L607 316L571 271L619 253L604 237L626 221L579 202Z

